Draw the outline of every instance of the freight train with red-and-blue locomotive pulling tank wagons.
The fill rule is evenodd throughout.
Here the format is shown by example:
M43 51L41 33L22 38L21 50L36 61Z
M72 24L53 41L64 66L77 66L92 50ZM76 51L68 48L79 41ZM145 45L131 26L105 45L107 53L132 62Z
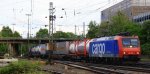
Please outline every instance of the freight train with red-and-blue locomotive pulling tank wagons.
M48 55L45 45L45 55ZM44 51L44 49L40 49ZM31 52L32 53L32 52ZM78 41L57 42L53 55L61 59L78 59L97 62L140 60L138 36L109 36ZM43 54L42 54L43 55Z

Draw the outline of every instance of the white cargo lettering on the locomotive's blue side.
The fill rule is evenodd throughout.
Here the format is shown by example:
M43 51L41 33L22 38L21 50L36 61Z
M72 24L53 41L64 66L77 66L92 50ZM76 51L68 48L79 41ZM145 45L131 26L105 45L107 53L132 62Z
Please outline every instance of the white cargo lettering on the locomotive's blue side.
M98 55L99 57L102 57L102 55L105 53L105 44L93 44L92 45L92 54Z

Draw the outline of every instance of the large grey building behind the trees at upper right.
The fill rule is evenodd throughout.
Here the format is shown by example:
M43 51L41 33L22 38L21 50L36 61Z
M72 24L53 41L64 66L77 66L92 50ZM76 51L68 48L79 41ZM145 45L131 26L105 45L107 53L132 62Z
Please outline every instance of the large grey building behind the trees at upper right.
M123 0L101 12L101 21L109 21L118 11L135 22L150 19L150 0Z

